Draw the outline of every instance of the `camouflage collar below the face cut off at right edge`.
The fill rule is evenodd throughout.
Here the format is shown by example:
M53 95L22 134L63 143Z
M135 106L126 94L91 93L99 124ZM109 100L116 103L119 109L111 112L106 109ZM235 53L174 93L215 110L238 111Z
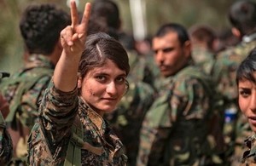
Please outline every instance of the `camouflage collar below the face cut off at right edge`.
M241 165L249 166L256 165L256 135L247 137L244 140L244 146L247 147L247 151L243 152L241 157Z

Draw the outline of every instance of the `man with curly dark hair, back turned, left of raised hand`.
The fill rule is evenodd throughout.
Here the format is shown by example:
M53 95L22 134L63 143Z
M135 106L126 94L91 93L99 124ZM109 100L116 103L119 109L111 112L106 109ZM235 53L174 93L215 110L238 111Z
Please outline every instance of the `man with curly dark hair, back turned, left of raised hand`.
M60 32L70 17L53 4L30 5L22 14L20 32L29 54L24 68L0 84L9 101L6 118L14 144L13 163L24 163L26 140L38 116L39 101L61 56Z

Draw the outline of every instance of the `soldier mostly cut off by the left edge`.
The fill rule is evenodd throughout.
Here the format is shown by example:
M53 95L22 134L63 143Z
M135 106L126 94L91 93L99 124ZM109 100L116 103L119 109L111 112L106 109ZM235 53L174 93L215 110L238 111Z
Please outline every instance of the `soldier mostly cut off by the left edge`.
M0 81L3 77L9 77L9 73L0 72ZM0 165L7 165L13 153L12 140L4 122L8 114L9 104L0 93Z

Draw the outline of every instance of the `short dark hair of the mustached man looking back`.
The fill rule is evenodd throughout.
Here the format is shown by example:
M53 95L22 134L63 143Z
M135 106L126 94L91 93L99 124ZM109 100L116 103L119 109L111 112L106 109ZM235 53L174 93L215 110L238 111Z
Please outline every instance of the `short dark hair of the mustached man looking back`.
M186 28L177 23L168 23L160 26L158 31L156 31L154 37L164 37L170 31L177 32L177 37L181 46L183 46L183 44L189 40L189 34Z

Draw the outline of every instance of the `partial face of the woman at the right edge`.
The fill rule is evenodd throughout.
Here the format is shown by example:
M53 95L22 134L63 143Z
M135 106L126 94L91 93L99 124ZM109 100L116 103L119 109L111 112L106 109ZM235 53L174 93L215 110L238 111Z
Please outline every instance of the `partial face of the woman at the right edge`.
M238 83L238 103L241 112L247 117L251 129L256 132L256 84L248 80Z

